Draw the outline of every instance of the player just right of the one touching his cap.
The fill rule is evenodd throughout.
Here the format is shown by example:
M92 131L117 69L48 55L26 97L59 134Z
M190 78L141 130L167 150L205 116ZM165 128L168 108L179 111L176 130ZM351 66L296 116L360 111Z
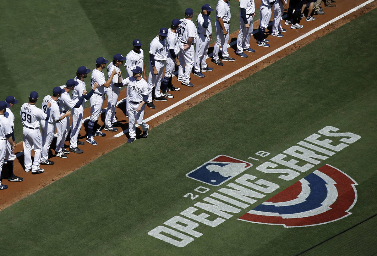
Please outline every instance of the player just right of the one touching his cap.
M229 23L230 23L230 4L228 0L219 0L216 5L216 43L213 46L213 59L212 62L218 66L224 64L219 60L219 50L221 46L223 61L234 61L228 54L228 41L229 41Z

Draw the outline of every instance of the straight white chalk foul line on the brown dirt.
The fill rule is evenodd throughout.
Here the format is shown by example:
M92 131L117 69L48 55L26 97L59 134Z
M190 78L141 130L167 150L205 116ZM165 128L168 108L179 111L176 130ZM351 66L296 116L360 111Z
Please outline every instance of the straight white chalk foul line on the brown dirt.
M291 42L289 42L289 43L287 43L287 44L285 44L285 45L283 45L283 46L280 46L280 47L277 48L276 50L274 50L274 51L272 51L272 52L270 52L270 53L268 53L268 54L266 54L266 55L260 57L260 58L257 59L257 60L254 60L253 62L251 62L251 63L249 63L249 64L243 66L242 68L240 68L240 69L238 69L238 70L236 70L236 71L234 71L234 72L228 74L227 76L222 77L221 79L217 80L216 82L213 82L213 83L211 83L210 85L208 85L208 86L206 86L206 87L200 89L199 91L197 91L197 92L191 94L190 96L187 96L187 97L185 97L184 99L179 100L178 102L174 103L173 105L168 106L168 107L165 108L165 109L162 109L161 111L159 111L158 113L154 114L153 116L148 117L148 118L145 119L144 121L145 121L145 122L148 122L148 121L150 121L150 120L152 120L152 119L154 119L154 118L156 118L156 117L158 117L158 116L161 116L162 114L164 114L164 113L166 113L167 111L169 111L169 110L175 108L176 106L181 105L182 103L186 102L187 100L190 100L190 99L192 99L192 98L195 97L195 96L198 96L199 94L201 94L201 93L207 91L208 89L212 88L213 86L218 85L218 84L221 83L221 82L224 82L224 81L227 80L228 78L230 78L230 77L232 77L232 76L234 76L234 75L236 75L236 74L238 74L238 73L244 71L244 70L247 69L247 68L250 68L251 66L254 66L255 64L261 62L262 60L267 59L268 57L272 56L273 54L275 54L275 53L277 53L277 52L279 52L279 51L281 51L281 50L287 48L287 47L290 46L290 45L293 45L294 43L300 41L301 39L304 39L305 37L308 37L309 35L313 34L314 32L317 32L318 30L324 28L325 26L328 26L328 25L330 25L331 23L334 23L334 22L336 22L337 20L342 19L342 18L345 17L346 15L348 15L348 14L350 14L350 13L352 13L352 12L354 12L354 11L360 9L360 8L362 8L362 7L365 6L365 5L368 5L369 3L373 2L373 1L374 1L374 0L368 0L368 1L366 1L365 3L362 3L361 5L358 5L358 6L356 6L355 8L353 8L353 9L351 9L351 10L349 10L349 11L347 11L347 12L341 14L341 15L339 15L338 17L336 17L336 18L334 18L334 19L332 19L332 20L330 20L330 21L328 21L328 22L326 22L326 23L320 25L319 27L312 29L311 31L309 31L309 32L307 32L307 33L301 35L300 37L297 37L296 39L292 40ZM136 126L138 126L138 125L136 125ZM128 129L126 129L126 130L124 130L124 131L121 131L120 133L114 135L113 137L120 137L120 136L122 136L123 134L126 134L127 132L128 132Z

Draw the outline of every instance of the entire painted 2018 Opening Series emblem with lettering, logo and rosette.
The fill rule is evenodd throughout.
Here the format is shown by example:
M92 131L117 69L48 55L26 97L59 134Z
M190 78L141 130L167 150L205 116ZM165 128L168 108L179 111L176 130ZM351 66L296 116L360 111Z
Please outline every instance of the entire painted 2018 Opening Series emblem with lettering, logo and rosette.
M201 232L195 230L199 225L215 228L234 215L241 221L284 227L320 225L348 216L356 204L357 183L331 165L314 168L361 138L338 130L326 126L253 169L251 163L229 156L211 159L186 176L210 186L219 186L242 176L222 185L148 234L184 247L203 235L203 228ZM269 154L258 155L267 157ZM303 177L276 194L280 185L259 179L259 171L274 175L275 179L278 175L284 183L280 185L284 187L287 181ZM209 190L202 186L195 189L202 194ZM184 197L196 199L198 195L188 193Z

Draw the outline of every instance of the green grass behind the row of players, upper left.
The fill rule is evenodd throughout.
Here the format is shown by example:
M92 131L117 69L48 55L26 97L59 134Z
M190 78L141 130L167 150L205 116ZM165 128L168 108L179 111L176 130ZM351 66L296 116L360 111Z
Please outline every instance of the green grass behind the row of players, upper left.
M216 9L215 0L207 2ZM1 99L13 95L20 101L12 109L16 113L16 141L22 138L18 113L28 101L31 91L37 91L40 100L51 95L55 86L64 85L76 76L79 66L95 68L97 57L112 61L116 53L126 56L133 49L132 40L143 43L146 72L149 72L149 44L162 27L170 28L173 19L184 18L186 8L194 11L194 22L203 2L151 1L16 1L3 6L0 22L2 43L0 57L5 69L1 80ZM238 2L231 2L234 22L230 31L239 28ZM216 12L212 16L215 32ZM259 19L259 11L254 20ZM214 41L216 37L214 37ZM122 68L125 71L125 68ZM106 74L106 71L105 71ZM86 79L89 90L90 76ZM4 90L6 89L6 90ZM90 106L89 101L86 106Z

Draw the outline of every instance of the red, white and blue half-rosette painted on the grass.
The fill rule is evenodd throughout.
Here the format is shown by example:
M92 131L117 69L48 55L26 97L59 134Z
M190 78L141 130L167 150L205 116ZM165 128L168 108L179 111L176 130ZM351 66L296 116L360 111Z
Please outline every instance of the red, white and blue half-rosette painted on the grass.
M239 217L241 221L307 227L342 219L356 204L357 183L325 165Z

